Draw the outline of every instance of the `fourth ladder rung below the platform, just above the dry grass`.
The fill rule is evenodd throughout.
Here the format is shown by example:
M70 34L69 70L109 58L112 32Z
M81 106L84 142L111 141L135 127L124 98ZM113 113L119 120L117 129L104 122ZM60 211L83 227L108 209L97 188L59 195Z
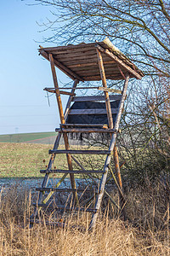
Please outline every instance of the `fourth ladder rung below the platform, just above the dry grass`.
M42 208L47 208L48 209L59 209L59 210L65 210L65 211L82 211L82 212L97 212L96 209L92 208L84 208L84 207L65 207L65 206L49 206L47 204L32 204L34 207L42 207Z

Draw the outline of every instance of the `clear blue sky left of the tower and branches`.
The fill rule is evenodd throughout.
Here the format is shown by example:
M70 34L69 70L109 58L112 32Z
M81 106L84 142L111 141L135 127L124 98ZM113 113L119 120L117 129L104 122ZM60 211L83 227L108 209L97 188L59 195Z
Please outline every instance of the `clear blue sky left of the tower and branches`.
M37 52L39 44L54 46L40 43L44 33L37 25L51 14L48 7L28 2L0 3L0 134L54 131L59 126L55 97L50 96L48 107L43 91L54 86L49 62ZM61 82L68 82L58 74Z

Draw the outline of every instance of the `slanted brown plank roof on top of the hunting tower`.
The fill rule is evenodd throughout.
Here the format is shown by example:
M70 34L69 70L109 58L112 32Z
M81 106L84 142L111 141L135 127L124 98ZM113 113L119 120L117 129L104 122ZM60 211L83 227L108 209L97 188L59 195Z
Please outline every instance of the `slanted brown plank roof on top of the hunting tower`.
M40 47L39 53L47 60L48 54L52 54L55 66L73 80L99 81L101 78L96 48L100 50L104 61L106 79L121 80L124 79L123 73L127 72L130 78L142 79L144 76L144 73L111 44L108 38L92 44Z

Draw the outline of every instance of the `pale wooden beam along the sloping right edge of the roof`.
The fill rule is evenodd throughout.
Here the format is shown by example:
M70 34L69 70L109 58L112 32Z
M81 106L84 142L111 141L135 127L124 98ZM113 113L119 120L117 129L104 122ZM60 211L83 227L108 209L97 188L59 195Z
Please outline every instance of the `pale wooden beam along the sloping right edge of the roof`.
M125 68L127 70L127 72L132 73L133 76L136 79L142 79L142 76L139 75L139 73L137 73L135 70L133 70L132 67L129 67L125 62L123 62L122 60L120 60L116 55L114 55L109 49L104 49L103 47L101 47L99 44L95 45L97 49L99 49L100 52L105 53L105 55L108 55L112 60L116 61L121 67Z

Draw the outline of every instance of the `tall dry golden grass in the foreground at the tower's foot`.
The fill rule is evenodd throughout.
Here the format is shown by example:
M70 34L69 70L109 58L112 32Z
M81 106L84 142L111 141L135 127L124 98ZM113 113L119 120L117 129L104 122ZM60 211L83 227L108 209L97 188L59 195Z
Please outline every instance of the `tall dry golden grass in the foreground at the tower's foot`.
M98 219L96 229L88 232L90 215L84 212L65 215L65 228L44 223L34 224L30 229L28 219L32 212L32 195L29 190L17 187L2 189L0 255L170 255L169 212L164 212L164 218L161 218L164 225L158 228L153 221L157 212L154 213L150 204L152 213L142 216L150 219L150 226L146 227L140 214L142 210L144 214L148 210L145 209L145 200L150 193L144 197L144 192L140 192L138 190L136 195L134 190L129 192L132 196L127 212L131 223L110 218L106 208L105 214ZM136 225L137 222L139 225Z

